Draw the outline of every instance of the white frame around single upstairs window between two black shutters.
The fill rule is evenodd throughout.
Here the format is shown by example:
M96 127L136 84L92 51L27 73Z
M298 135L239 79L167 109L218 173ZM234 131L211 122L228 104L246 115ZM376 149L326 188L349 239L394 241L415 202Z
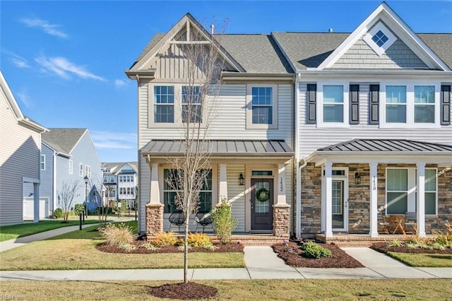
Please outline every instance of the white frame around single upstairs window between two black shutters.
M323 86L324 85L342 85L343 86L343 122L323 122ZM319 128L350 128L349 120L349 92L350 92L350 82L345 81L321 81L317 83L317 127Z

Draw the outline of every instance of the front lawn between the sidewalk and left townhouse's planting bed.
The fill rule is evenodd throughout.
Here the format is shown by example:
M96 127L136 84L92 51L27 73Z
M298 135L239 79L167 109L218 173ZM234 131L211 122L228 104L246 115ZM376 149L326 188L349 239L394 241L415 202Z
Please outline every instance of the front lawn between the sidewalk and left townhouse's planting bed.
M136 228L136 222L126 223ZM1 252L2 270L182 268L184 253L112 254L98 251L97 226ZM242 268L242 253L189 253L190 268Z

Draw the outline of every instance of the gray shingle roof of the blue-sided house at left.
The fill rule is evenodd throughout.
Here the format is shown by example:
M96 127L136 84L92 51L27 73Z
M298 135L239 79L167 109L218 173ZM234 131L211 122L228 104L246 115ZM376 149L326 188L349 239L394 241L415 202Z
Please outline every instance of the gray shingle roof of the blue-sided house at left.
M52 128L42 134L42 142L55 151L70 155L76 143L88 129L57 129Z

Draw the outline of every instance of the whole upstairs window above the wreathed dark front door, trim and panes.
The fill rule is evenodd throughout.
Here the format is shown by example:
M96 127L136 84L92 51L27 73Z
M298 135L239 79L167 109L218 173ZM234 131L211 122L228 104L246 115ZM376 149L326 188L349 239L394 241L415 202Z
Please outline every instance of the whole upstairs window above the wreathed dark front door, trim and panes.
M247 85L246 128L278 129L277 85Z

